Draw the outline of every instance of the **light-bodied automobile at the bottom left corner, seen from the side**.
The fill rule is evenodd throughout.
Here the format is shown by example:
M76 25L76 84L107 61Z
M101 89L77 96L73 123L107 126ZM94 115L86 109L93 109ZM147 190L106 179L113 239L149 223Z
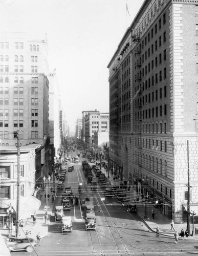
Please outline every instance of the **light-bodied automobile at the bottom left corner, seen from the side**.
M32 252L35 246L35 240L32 238L7 238L5 243L10 251L21 251Z

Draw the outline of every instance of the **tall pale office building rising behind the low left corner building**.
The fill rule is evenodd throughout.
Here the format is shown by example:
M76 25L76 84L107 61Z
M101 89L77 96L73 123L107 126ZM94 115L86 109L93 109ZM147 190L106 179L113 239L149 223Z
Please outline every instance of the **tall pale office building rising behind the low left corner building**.
M47 39L30 40L26 33L1 32L1 146L43 144L49 138L49 80Z

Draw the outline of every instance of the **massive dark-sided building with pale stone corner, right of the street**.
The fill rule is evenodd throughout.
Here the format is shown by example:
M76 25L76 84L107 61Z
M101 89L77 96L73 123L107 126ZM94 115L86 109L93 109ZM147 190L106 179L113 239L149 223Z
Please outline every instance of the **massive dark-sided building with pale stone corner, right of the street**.
M188 163L191 209L198 203L196 4L144 1L108 64L112 165L176 222L187 214Z

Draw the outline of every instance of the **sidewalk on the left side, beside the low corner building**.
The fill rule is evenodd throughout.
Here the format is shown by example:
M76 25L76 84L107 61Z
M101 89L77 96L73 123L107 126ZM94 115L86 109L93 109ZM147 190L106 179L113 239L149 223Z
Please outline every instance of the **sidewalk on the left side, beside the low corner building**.
M57 183L58 181L55 179L55 191L56 191L56 187L57 187ZM52 180L50 182L50 186L53 186L53 177ZM40 237L46 237L48 235L48 226L50 224L50 218L52 215L52 209L53 209L53 203L52 203L52 199L50 197L50 199L48 200L48 220L46 220L46 224L45 224L45 219L43 219L44 215L45 215L45 205L46 205L46 198L45 198L45 194L46 194L46 187L45 189L42 191L42 198L41 198L41 202L40 202L40 207L36 212L36 223L35 225L33 224L33 220L29 219L27 224L25 225L25 227L21 227L19 229L19 233L20 233L20 238L26 238L26 231L28 231L28 238L36 238L36 235L38 234L38 232L40 232ZM50 188L48 187L48 194L50 193ZM56 194L55 194L56 196ZM7 237L8 236L8 230L7 229L3 229L0 230L2 236ZM14 230L13 230L13 235L14 235Z

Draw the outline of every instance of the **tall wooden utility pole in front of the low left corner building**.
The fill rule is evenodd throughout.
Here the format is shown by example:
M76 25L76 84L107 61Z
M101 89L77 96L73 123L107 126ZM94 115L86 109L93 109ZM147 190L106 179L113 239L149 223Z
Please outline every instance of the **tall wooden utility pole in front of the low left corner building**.
M17 139L17 192L16 192L16 238L19 236L19 204L20 204L20 134L14 132L14 138Z

